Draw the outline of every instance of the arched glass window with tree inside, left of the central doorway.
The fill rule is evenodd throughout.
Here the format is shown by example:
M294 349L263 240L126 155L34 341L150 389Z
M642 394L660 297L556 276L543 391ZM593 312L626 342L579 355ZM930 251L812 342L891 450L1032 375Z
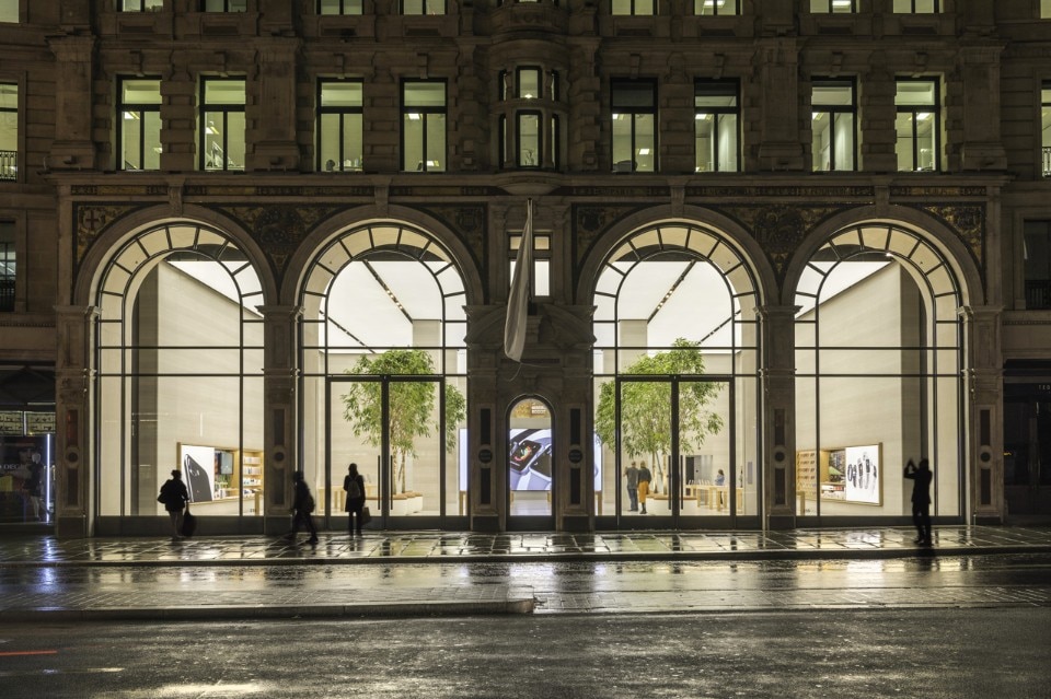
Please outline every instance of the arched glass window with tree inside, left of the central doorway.
M362 225L317 253L299 342L301 463L319 514L343 516L353 462L381 526L466 516L465 303L451 254L416 228Z

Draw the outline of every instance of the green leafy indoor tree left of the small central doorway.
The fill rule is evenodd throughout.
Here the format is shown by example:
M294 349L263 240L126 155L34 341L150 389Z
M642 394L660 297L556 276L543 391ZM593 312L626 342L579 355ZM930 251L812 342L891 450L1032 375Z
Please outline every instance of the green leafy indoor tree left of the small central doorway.
M389 350L382 354L365 356L346 370L351 375L427 375L435 374L435 363L424 350ZM434 381L390 382L390 440L394 462L394 484L397 492L405 492L406 464L416 456L416 438L429 436L435 424L435 404L438 383ZM453 386L446 386L446 451L457 445L457 426L466 415L466 399ZM366 444L381 447L383 443L382 385L378 381L350 384L343 395L343 418L350 423L354 435Z

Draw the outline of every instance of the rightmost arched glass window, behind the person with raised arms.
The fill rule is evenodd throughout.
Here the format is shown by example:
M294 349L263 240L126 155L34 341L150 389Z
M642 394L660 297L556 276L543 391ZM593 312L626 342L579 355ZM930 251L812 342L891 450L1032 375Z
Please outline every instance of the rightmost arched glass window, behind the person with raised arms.
M932 514L963 497L960 290L921 235L833 235L796 288L796 512L909 516L905 462L929 458Z

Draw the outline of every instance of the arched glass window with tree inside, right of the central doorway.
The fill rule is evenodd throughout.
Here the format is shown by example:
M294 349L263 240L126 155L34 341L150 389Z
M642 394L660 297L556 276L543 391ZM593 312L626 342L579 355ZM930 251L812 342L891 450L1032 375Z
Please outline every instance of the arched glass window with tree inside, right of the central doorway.
M759 514L758 295L706 226L655 225L610 254L593 296L600 517L695 528Z

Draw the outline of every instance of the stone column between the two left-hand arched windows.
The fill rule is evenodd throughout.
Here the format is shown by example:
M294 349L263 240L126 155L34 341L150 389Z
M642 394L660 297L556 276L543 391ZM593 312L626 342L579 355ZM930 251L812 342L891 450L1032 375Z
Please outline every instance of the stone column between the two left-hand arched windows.
M296 431L296 324L299 306L259 306L264 324L263 488L264 531L288 531L292 506L292 471L299 454Z

